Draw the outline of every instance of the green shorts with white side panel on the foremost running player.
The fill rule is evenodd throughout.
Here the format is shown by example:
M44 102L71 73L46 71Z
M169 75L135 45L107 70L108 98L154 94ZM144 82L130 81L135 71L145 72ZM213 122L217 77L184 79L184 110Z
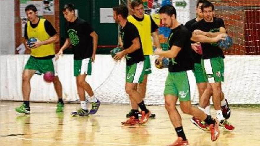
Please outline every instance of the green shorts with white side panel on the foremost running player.
M180 101L191 101L196 81L192 70L169 72L165 81L164 95L174 95Z

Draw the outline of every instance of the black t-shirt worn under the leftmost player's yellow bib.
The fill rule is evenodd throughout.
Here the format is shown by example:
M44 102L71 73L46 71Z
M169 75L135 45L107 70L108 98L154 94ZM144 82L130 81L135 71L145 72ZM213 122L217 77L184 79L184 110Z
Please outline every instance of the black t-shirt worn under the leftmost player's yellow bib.
M40 22L40 19L39 19L39 21L37 22L37 24L32 24L32 22L30 22L30 25L31 25L32 28L35 28L35 27L38 26L39 22ZM48 33L48 35L49 35L50 37L54 36L54 35L57 33L56 30L55 30L55 28L51 25L51 22L49 22L49 21L46 20L46 19L45 19L45 21L44 21L44 28L45 28L45 31ZM24 37L25 37L26 40L29 39L29 38L28 38L28 35L27 35L27 24L25 24Z

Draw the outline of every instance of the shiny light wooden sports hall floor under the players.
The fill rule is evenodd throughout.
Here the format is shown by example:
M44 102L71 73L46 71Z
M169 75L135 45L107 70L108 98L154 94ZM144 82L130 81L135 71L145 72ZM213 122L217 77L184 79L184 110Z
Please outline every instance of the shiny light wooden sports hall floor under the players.
M23 115L14 111L21 102L0 103L1 146L165 146L176 140L164 106L148 106L157 118L146 125L122 126L129 105L101 105L98 113L90 117L70 117L79 104L65 104L64 114L56 114L56 104L30 103L32 113ZM221 130L215 142L210 140L209 132L195 127L189 121L191 117L180 112L190 145L260 146L260 109L231 110L229 121L236 129Z

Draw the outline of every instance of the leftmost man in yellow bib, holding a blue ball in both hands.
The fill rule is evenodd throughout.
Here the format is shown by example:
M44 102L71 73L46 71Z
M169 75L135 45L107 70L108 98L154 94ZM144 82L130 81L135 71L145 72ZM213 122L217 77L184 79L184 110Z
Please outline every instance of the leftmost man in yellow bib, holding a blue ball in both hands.
M38 41L34 42L33 45L27 45L27 47L31 48L31 55L22 74L23 104L15 110L19 113L30 113L30 79L35 73L40 75L51 71L55 75L53 84L58 95L56 112L63 112L62 86L57 76L57 64L54 60L54 43L59 40L59 37L48 20L37 16L38 11L34 5L26 6L25 12L29 21L25 24L24 37L26 40L35 37ZM26 42L26 44L28 43Z

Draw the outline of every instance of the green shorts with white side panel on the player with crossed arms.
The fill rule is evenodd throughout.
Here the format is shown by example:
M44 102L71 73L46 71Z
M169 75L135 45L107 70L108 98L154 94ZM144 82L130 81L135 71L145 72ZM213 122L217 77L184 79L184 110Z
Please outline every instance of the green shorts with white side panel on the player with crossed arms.
M222 57L202 59L201 64L206 82L224 82L224 60Z

